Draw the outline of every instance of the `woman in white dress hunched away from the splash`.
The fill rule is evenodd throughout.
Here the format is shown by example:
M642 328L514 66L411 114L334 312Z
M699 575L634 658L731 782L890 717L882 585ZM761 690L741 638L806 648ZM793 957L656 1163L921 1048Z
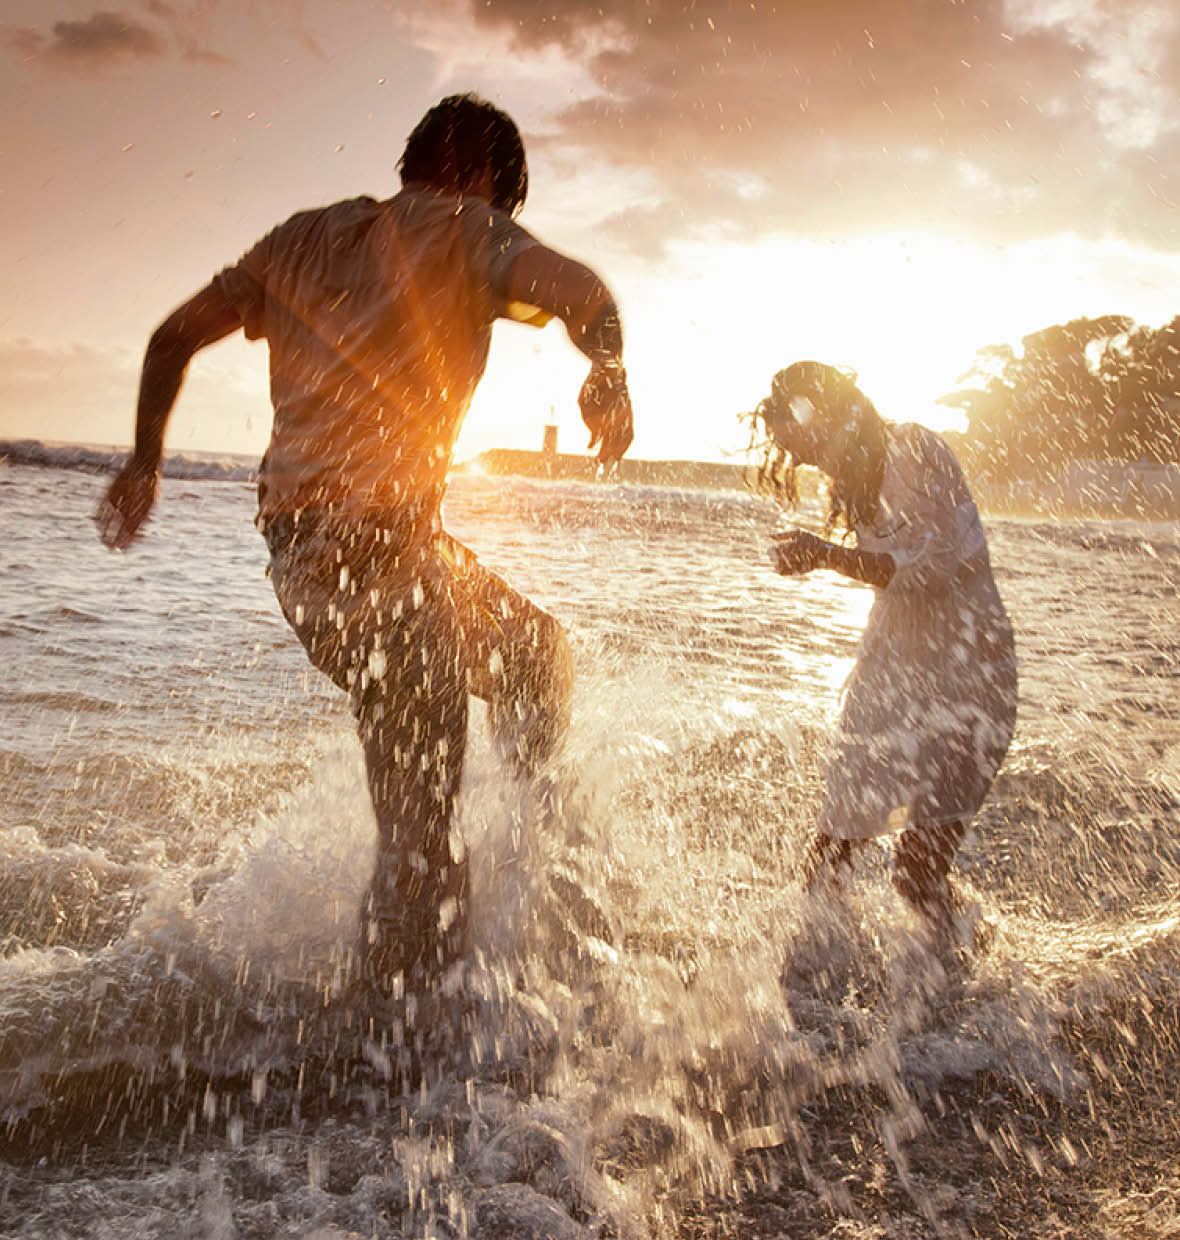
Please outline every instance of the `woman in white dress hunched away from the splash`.
M987 538L953 453L932 430L891 425L832 366L780 371L756 420L772 440L766 472L795 500L795 467L830 479L827 533L777 539L771 562L796 575L829 568L876 598L844 689L806 882L900 828L894 885L944 944L947 872L1011 739L1016 660Z

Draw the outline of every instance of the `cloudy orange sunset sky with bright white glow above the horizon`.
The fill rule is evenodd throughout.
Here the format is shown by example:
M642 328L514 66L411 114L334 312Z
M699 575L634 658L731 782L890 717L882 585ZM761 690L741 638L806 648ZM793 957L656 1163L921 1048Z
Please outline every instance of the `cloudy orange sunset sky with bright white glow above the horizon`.
M392 193L454 91L516 117L521 222L619 298L636 456L739 448L797 358L942 425L977 348L1180 314L1174 0L108 2L0 9L4 438L128 443L160 319L294 211ZM169 448L260 451L265 368L198 356ZM550 419L583 449L583 372L497 326L459 459Z

